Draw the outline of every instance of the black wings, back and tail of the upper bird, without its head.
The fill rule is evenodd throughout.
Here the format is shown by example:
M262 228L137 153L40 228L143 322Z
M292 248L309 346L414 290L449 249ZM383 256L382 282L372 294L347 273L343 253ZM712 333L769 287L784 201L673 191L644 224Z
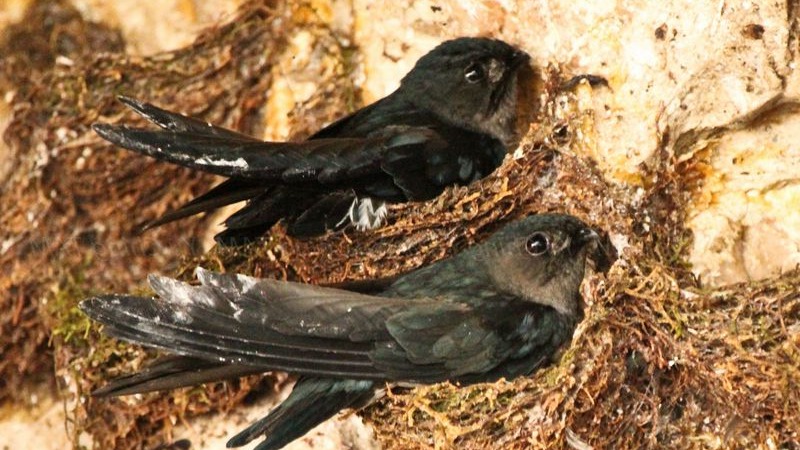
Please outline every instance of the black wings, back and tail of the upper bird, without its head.
M160 129L95 124L104 139L129 150L230 177L151 228L247 201L217 236L249 242L286 219L291 235L344 226L356 197L424 201L453 184L494 170L505 148L493 138L440 122L408 102L383 100L302 142L263 142L131 98L120 100Z

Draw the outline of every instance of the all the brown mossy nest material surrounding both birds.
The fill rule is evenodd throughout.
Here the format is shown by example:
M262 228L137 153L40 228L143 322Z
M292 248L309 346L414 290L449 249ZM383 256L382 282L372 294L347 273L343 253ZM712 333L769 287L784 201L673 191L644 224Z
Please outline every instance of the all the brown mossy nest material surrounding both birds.
M315 283L391 276L454 254L506 221L558 211L625 247L610 272L584 283L586 318L573 344L531 378L393 392L363 412L386 448L800 447L800 273L698 289L684 262L690 237L682 225L690 194L684 187L689 179L696 185L698 172L686 162L678 167L663 148L643 175L644 195L609 185L583 156L591 154L593 120L576 99L591 91L561 92L556 68L536 74L544 82L523 83L523 92L541 94L541 107L514 157L471 186L393 207L392 222L376 232L293 241L278 227L261 245L214 249L182 264L196 249L188 239L206 222L135 236L131 211L151 219L212 180L111 150L88 125L136 120L121 117L113 100L125 93L256 134L253 118L287 36L311 29L315 48L346 59L334 33L304 8L252 2L186 49L153 58L101 56L43 72L17 93L6 140L16 150L12 183L19 190L0 193L13 205L2 219L14 242L0 254L11 274L0 286L3 311L14 312L2 316L0 379L11 381L0 396L19 386L19 377L5 376L12 367L23 369L20 376L33 370L26 362L48 367L37 355L53 336L76 442L88 434L99 448L153 447L168 441L184 416L231 408L270 383L251 377L141 399L87 398L106 378L153 356L88 324L75 305L91 292L130 292L146 272L170 268L188 279L196 265ZM299 134L352 104L342 97L357 92L350 66L337 67L321 78L328 89L298 105ZM175 245L176 235L187 241Z

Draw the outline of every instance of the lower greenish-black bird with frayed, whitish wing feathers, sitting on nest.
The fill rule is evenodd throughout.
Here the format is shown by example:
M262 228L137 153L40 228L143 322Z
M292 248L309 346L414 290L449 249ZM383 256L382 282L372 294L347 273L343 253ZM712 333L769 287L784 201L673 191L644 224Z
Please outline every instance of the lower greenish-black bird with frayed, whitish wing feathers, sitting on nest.
M169 353L98 397L279 370L288 398L228 441L276 450L343 409L400 386L513 379L548 364L582 318L579 287L598 233L560 214L509 222L447 259L359 292L196 270L151 275L158 298L101 295L81 310L106 334Z

